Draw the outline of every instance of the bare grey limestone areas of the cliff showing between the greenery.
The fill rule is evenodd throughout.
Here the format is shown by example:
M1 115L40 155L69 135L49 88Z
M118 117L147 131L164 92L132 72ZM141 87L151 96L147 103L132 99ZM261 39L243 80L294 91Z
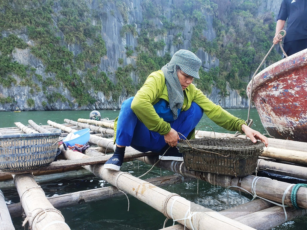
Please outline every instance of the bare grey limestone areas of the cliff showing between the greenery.
M138 36L140 35L142 23L144 22L144 12L146 11L146 5L142 0L123 0L118 4L118 1L105 1L103 4L99 0L87 0L86 6L89 8L90 12L98 12L99 17L91 18L91 24L96 26L101 25L100 35L105 41L106 55L100 58L100 63L97 64L99 72L107 73L107 77L111 79L113 83L116 83L118 79L115 77L115 73L119 67L125 67L132 64L136 67L137 55L140 52L136 51L138 48ZM173 6L183 4L182 0L169 0L164 2L161 11L164 12L166 19L174 17ZM279 4L281 0L268 0L264 1L262 4L265 10L273 11L277 14L279 10ZM121 7L126 8L122 9ZM66 48L74 56L80 54L84 49L80 42L69 43L65 41L65 35L61 29L59 29L59 17L56 16L58 12L63 10L63 7L59 2L54 2L52 6L53 13L52 21L54 28L57 29L56 36L60 39L60 44ZM126 10L126 12L124 12ZM166 13L165 13L166 12ZM206 9L201 11L206 20L206 28L202 31L202 36L208 41L212 41L216 37L216 30L213 28L214 15L208 13ZM146 16L148 18L148 16ZM157 29L163 29L163 20L161 18L151 18L156 25ZM100 20L100 21L99 21ZM191 39L194 33L193 28L196 25L196 21L190 18L184 18L182 20L182 25L180 27L170 28L166 30L166 33L159 33L155 36L155 41L163 41L165 45L162 48L158 48L156 51L157 56L165 56L165 54L170 54L172 56L174 52L179 49L189 49L191 50L192 44ZM122 29L124 25L133 25L136 28L136 34L133 31L127 31L122 35ZM12 82L10 87L5 87L0 85L0 98L13 98L13 102L3 102L0 103L0 111L12 111L15 107L19 107L21 110L94 110L94 109L119 109L121 103L133 93L128 93L125 88L122 89L118 97L114 97L111 93L104 93L100 90L95 90L92 86L87 86L87 79L84 77L86 74L86 69L91 68L93 65L85 61L85 69L77 70L77 74L81 76L79 84L84 84L86 91L92 98L95 99L94 103L87 103L87 105L80 105L76 102L76 98L72 96L71 91L68 89L67 84L59 80L56 77L56 73L48 71L46 64L33 55L31 49L37 46L37 42L33 41L28 36L28 30L26 27L21 27L20 29L5 29L1 31L2 38L8 37L10 34L16 34L28 47L25 49L14 48L11 53L12 61L18 62L27 68L35 68L34 75L32 75L32 85L20 84L23 79L16 73L12 72L10 75L16 80ZM181 34L180 34L181 33ZM178 36L179 34L179 36ZM174 43L174 40L180 41ZM93 40L87 40L89 45L93 44ZM174 45L175 44L175 45ZM132 49L132 54L127 55L127 50ZM209 71L211 68L218 67L220 61L215 55L210 55L209 52L205 52L203 48L196 50L196 55L202 60L202 68L205 71ZM9 55L10 56L10 55ZM119 60L122 60L120 63ZM29 71L28 71L29 72ZM132 69L128 73L133 79L133 82L138 83L139 73L136 69ZM41 77L42 78L41 78ZM41 79L40 79L41 78ZM31 90L33 85L38 88L44 87L44 82L46 80L52 79L56 84L45 85L45 90ZM214 82L213 82L214 83ZM233 90L227 84L227 90L229 95L222 96L220 94L220 89L212 85L212 92L207 94L216 104L221 105L223 108L247 108L248 100L246 97L240 96L238 90ZM134 91L135 93L136 91ZM58 93L58 94L56 94ZM47 95L61 95L61 98L56 98L55 101L49 100ZM51 97L51 96L49 96ZM29 103L29 98L34 101ZM64 99L63 99L64 98ZM50 101L50 102L49 102Z

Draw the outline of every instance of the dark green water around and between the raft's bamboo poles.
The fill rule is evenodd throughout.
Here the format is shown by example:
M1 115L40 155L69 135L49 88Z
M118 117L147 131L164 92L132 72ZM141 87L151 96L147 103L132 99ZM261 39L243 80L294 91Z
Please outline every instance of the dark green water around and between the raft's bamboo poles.
M244 120L247 119L247 109L227 109L228 112L240 117ZM104 110L99 111L101 117L108 117L110 120L115 119L118 111ZM88 118L90 111L39 111L39 112L21 112L10 113L0 112L0 128L14 127L14 122L21 122L24 125L28 124L31 119L37 124L41 123L47 125L47 120L56 121L57 123L64 123L64 119L77 120L78 118ZM253 127L261 133L264 129L260 122L260 118L255 109L251 110L251 119L254 120ZM216 132L228 132L227 130L215 125L205 115L197 126L197 129L203 125L210 125ZM204 126L200 130L211 131L210 127ZM142 162L134 161L124 163L122 171L130 172L134 176L140 176L150 169L151 166ZM162 171L162 175L172 174L169 171ZM142 179L160 176L160 169L154 168L150 173L146 174ZM73 179L62 179L55 182L40 184L45 191L47 197L57 196L61 194L72 193L81 190L89 190L99 188L101 186L110 186L95 176L80 177ZM229 208L227 196L223 187L216 188L207 182L199 182L199 190L197 194L197 181L184 182L179 185L165 186L163 189L170 192L177 193L186 199L203 205L204 207L221 211ZM2 190L6 197L7 204L19 202L19 196L16 189ZM231 206L239 205L249 201L252 197L248 195L240 195L235 191L229 191L229 203ZM128 202L125 196L109 198L107 200L87 202L79 205L73 205L67 208L59 209L65 217L65 222L71 229L85 230L85 229L148 229L156 230L163 227L165 217L162 213L151 208L149 205L139 201L138 199L129 196L130 210L127 212ZM21 227L22 218L13 218L13 224L16 230L23 230ZM295 221L288 221L281 226L278 230L282 229L295 229L303 230L306 228L306 217L296 219ZM166 226L172 225L169 220Z

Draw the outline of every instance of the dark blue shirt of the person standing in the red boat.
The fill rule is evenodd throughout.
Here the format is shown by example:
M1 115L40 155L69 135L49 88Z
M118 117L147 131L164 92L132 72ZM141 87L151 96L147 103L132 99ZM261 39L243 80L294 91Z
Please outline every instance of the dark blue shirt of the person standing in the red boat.
M277 20L287 21L287 41L307 39L307 0L282 0Z

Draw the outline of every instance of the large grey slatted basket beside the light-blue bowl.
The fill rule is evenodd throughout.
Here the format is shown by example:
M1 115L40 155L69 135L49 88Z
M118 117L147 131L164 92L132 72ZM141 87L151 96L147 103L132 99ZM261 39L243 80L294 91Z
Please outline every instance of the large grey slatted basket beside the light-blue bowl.
M0 169L23 171L50 164L59 136L59 132L0 135Z

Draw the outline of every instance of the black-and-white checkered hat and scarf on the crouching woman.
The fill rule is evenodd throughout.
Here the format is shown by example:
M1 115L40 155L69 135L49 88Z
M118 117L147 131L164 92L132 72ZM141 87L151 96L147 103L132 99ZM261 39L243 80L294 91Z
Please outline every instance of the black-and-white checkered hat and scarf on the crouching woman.
M198 71L201 66L201 60L191 51L181 49L173 55L168 64L161 68L165 77L167 93L169 95L169 106L174 119L177 119L178 109L182 108L184 99L176 66L179 66L185 74L199 79Z

